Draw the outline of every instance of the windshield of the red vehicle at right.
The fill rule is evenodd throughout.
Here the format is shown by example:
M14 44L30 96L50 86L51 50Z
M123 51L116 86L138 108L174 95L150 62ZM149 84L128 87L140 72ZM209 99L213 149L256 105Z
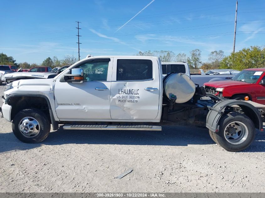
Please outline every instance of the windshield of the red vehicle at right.
M246 83L256 83L262 74L262 71L243 70L236 74L236 76L234 76L232 80L242 81Z

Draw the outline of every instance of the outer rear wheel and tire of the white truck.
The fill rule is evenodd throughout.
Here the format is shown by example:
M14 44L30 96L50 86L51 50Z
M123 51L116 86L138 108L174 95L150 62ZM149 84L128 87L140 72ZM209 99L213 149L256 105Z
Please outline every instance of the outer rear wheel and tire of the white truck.
M216 143L227 151L241 151L252 144L256 129L246 115L232 112L221 118L220 130L213 133Z

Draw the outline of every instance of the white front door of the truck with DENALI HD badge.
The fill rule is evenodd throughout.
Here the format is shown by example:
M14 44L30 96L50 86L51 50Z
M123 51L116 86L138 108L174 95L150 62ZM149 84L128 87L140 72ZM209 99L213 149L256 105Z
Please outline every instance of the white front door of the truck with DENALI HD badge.
M55 84L55 107L60 120L111 119L109 112L110 85L113 58L85 60L74 68L84 72L84 82L60 82Z

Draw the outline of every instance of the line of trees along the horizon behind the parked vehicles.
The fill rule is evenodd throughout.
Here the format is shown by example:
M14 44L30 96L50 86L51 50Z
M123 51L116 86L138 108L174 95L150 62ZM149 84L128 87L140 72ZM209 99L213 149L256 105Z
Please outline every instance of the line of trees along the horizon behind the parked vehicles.
M224 51L215 50L209 53L208 60L201 60L201 50L193 49L189 52L189 56L185 53L175 54L172 51L144 51L138 52L137 56L157 56L162 62L186 62L190 69L236 69L243 70L248 68L265 68L265 46L251 46L243 48L238 52L232 52L229 56L224 55ZM64 65L72 65L78 61L77 57L67 55L59 60L56 56L46 58L40 65L16 63L12 56L0 53L0 65L17 65L23 69L29 69L36 66L45 67L62 67Z

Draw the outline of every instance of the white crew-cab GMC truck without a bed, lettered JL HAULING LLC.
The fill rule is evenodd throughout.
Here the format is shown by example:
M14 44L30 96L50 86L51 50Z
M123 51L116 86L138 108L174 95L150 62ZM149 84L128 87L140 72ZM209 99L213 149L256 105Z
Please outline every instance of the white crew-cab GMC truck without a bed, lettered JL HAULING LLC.
M204 88L185 74L163 78L157 57L95 56L52 79L7 84L1 111L26 143L45 140L50 124L54 130L59 124L86 130L162 130L179 124L206 126L216 143L239 151L252 143L255 128L263 130L253 105L204 96Z

